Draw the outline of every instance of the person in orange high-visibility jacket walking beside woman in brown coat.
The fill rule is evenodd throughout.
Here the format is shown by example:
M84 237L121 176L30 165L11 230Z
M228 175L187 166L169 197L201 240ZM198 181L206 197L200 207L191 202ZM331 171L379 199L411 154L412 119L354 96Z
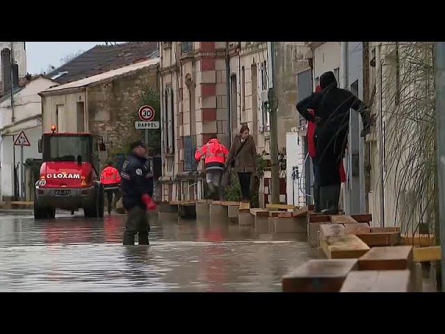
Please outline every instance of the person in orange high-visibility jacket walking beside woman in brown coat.
M199 162L205 157L206 182L209 187L207 198L222 198L224 189L220 187L221 177L225 170L225 160L229 150L218 141L216 135L211 136L209 142L195 152L195 160Z

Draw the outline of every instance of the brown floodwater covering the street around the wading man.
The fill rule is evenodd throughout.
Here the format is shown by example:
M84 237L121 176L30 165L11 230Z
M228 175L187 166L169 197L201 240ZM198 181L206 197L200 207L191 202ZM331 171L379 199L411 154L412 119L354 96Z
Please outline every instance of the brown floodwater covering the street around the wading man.
M124 221L0 214L0 291L280 292L287 271L316 257L305 235L156 216L151 246L124 247Z

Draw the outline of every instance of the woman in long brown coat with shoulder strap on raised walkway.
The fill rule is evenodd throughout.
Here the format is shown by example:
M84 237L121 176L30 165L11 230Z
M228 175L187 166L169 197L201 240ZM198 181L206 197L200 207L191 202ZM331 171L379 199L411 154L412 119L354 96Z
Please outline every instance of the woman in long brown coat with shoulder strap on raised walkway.
M250 202L250 178L257 173L257 146L247 125L234 138L225 165L238 173L242 201Z

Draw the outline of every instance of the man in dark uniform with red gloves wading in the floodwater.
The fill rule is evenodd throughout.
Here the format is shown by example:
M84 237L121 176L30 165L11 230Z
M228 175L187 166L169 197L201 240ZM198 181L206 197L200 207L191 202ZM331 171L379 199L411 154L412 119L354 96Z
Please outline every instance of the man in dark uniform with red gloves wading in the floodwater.
M122 204L127 211L124 245L134 245L138 234L140 245L149 245L150 225L147 210L156 209L153 196L153 173L147 167L147 145L143 141L131 144L131 154L122 165Z

